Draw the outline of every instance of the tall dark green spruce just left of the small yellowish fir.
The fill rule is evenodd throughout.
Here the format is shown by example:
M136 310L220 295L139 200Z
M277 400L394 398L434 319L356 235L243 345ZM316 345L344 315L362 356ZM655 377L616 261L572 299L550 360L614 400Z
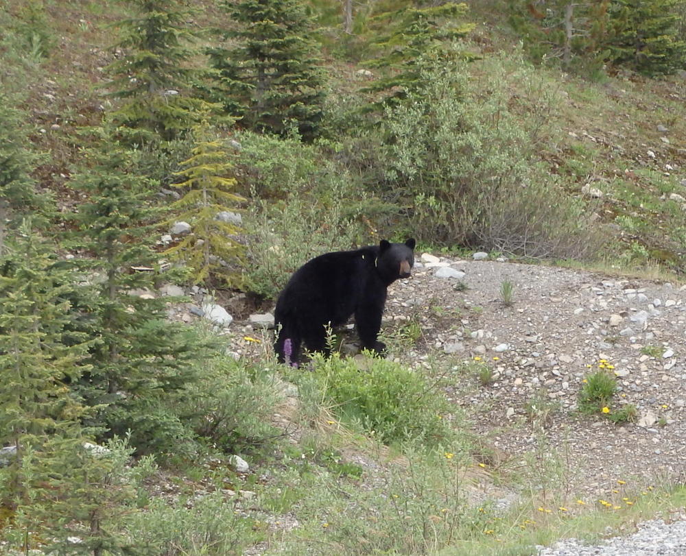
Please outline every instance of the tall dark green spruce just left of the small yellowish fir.
M134 154L113 134L104 132L99 148L87 154L90 167L73 180L88 195L75 219L91 253L84 266L97 293L91 308L97 343L82 395L91 405L104 404L98 425L120 435L131 428L134 444L145 448L182 437L185 428L165 402L192 376L188 361L194 352L191 332L167 321L163 300L129 293L151 288L158 275L158 256L150 247L158 210L145 201L147 180L132 173Z

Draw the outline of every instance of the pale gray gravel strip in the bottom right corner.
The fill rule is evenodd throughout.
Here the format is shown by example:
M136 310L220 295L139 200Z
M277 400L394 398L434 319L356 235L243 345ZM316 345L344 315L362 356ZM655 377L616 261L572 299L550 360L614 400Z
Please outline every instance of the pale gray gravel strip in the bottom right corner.
M686 521L665 523L646 521L628 537L612 537L589 546L578 539L565 539L547 548L539 556L685 556Z

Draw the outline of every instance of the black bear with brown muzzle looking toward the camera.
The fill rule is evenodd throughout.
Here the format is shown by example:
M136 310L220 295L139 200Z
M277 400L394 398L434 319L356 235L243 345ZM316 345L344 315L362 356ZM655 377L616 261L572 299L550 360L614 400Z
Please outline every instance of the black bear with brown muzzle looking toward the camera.
M353 313L362 348L383 353L377 341L388 286L414 266L414 239L325 253L296 270L276 301L274 352L281 363L298 364L300 343L327 352L327 325L344 324Z

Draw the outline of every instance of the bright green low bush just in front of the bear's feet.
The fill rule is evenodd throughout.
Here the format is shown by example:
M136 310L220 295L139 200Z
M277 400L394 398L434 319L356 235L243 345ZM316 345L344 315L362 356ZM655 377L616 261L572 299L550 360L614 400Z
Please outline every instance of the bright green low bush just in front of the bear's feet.
M386 359L367 363L363 370L338 354L315 356L311 378L342 420L388 444L412 439L429 447L452 439L443 420L451 406L436 384Z

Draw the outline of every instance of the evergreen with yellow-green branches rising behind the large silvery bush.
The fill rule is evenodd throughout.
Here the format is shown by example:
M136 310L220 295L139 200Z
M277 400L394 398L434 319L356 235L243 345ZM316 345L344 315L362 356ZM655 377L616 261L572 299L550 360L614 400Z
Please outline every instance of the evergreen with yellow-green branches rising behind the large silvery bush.
M381 101L375 101L366 109L397 104L410 93L421 90L425 86L423 61L447 60L451 56L449 44L464 38L474 28L473 23L457 23L466 12L466 4L449 2L429 8L405 7L375 16L372 26L379 29L390 27L376 41L386 53L365 64L387 69L389 75L362 89L363 93L385 93ZM460 56L474 58L466 52Z

